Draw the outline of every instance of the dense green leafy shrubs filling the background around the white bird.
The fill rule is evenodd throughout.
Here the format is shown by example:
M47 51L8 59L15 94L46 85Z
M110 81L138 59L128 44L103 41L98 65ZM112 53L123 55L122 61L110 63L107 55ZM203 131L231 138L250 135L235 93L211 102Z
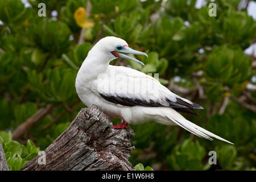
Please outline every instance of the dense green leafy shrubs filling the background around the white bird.
M159 73L162 84L171 83L171 90L204 106L198 111L201 117L184 114L187 119L235 143L210 142L180 127L155 122L132 125L134 166L255 169L256 119L255 109L249 106L255 107L256 93L246 89L249 82L255 84L251 81L256 75L255 57L243 51L255 42L256 23L246 9L237 10L240 0L216 0L216 17L208 15L210 1L195 9L196 0L90 0L89 19L94 26L85 30L82 44L78 44L82 31L73 14L79 7L86 9L86 0L29 2L31 7L26 8L20 0L0 0L0 141L10 169L19 169L39 148L48 147L85 107L76 94L76 73L93 44L110 35L148 53L148 58L137 56L144 67L127 60L111 64ZM46 17L38 16L40 2L46 4ZM242 104L232 99L240 97ZM26 146L11 140L10 132L49 104L53 109L20 138ZM217 153L216 165L208 164L212 150ZM135 168L144 170L142 164Z

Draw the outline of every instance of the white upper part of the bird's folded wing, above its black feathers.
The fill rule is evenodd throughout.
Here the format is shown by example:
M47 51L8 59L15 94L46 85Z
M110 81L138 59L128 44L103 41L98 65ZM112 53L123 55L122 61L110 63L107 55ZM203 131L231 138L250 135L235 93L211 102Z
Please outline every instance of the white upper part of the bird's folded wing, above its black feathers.
M176 102L176 98L192 104L191 101L172 93L158 80L135 69L126 67L109 68L93 80L91 90L95 94L106 94L106 96L119 96L138 100L159 102L163 106L170 106L166 98Z

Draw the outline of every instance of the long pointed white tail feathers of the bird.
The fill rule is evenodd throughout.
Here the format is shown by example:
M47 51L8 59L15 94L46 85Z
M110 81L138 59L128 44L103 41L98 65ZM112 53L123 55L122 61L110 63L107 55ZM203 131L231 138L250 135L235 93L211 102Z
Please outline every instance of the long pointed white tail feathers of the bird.
M174 118L168 117L167 115L166 115L166 117L168 119L170 119L172 122L174 122L176 125L183 127L185 130L188 130L189 132L191 132L194 135L197 135L198 137L209 139L209 140L213 140L210 137L214 137L214 138L217 138L224 142L234 144L232 142L229 142L228 140L225 140L224 138L218 137L218 135L210 133L210 131L207 131L207 130L201 128L200 126L195 125L194 123L188 121L185 118L174 119ZM177 121L177 120L179 120L179 121Z

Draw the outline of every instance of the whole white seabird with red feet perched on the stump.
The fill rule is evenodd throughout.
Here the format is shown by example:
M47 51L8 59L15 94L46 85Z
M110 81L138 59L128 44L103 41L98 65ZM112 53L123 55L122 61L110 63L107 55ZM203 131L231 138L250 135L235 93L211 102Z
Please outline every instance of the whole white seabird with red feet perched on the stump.
M197 115L192 109L204 109L202 106L177 96L142 72L109 65L117 57L144 65L127 55L130 53L146 55L129 48L125 40L113 36L102 38L93 46L76 77L77 94L86 106L95 104L105 113L121 118L121 124L114 125L114 128L155 121L163 125L179 125L201 138L213 140L213 137L231 143L177 112Z

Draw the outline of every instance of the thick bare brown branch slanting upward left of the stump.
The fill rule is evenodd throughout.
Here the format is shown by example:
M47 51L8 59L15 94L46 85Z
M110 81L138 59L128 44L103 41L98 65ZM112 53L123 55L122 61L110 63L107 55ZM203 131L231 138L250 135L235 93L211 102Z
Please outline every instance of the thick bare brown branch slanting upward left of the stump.
M24 123L19 125L13 132L13 139L17 140L28 133L42 118L44 118L52 109L54 105L48 104L46 107L40 108L34 115L28 118Z

